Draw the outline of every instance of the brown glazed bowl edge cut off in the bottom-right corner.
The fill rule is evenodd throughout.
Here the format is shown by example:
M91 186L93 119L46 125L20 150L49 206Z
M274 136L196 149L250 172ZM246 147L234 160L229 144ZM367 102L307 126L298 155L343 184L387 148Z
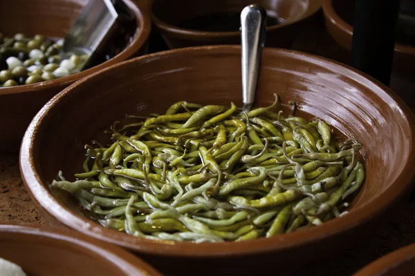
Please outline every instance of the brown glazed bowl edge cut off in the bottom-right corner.
M411 244L377 259L353 276L410 276L414 270L415 244Z

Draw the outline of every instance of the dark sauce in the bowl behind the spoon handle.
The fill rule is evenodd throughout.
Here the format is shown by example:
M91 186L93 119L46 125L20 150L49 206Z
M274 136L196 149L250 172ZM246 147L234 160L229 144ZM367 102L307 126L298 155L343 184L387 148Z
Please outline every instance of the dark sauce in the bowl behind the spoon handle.
M284 23L279 17L267 18L267 26ZM192 17L178 23L179 28L200 30L205 32L234 32L241 26L241 12L215 12Z

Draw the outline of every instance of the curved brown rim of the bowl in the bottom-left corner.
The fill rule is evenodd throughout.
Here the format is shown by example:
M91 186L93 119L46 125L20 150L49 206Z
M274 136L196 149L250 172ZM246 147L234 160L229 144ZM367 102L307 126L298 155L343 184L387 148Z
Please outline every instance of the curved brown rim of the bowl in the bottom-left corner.
M8 239L10 235L25 235L28 237L42 237L44 239L61 240L74 247L87 250L102 259L107 259L124 273L138 273L138 275L161 276L152 266L136 255L129 253L113 244L100 242L87 235L68 228L35 224L0 224L0 240ZM1 257L1 255L0 255Z

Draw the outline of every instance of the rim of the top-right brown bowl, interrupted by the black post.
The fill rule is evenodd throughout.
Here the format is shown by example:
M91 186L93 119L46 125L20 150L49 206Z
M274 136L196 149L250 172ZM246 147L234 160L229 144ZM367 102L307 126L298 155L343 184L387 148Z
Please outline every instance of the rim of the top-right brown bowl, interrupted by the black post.
M332 26L340 30L340 32L347 34L347 37L351 40L353 37L353 27L344 21L340 17L340 15L335 12L333 7L333 0L323 0L322 10L324 17L326 17L326 22L329 21ZM342 43L340 43L343 47L350 49L351 46L346 46ZM415 55L415 47L406 46L403 44L395 44L394 48L395 52L400 52L407 55Z

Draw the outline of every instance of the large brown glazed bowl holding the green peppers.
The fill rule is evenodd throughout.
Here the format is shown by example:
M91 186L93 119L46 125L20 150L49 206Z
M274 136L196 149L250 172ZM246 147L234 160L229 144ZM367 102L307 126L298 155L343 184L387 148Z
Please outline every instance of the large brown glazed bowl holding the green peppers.
M66 226L133 250L162 272L178 275L282 271L369 234L374 220L412 188L412 112L378 81L329 59L292 50L265 48L258 83L256 104L269 105L278 93L282 103L298 104L298 115L324 119L363 145L367 177L349 214L268 239L154 242L103 228L82 213L70 195L48 188L59 170L74 180L73 174L82 170L84 144L93 139L109 142L103 131L125 114L163 112L183 100L203 105L233 101L241 106L239 46L183 48L138 57L66 88L39 111L24 136L20 168L26 188L40 208Z

